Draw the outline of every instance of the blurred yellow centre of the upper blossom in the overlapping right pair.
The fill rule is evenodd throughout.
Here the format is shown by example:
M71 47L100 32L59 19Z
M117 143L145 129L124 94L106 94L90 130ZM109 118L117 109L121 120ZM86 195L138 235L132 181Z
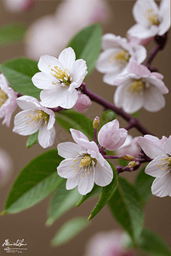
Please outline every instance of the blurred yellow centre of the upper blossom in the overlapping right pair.
M128 51L123 49L121 51L118 51L114 55L109 56L109 62L114 63L117 61L117 63L121 66L126 65L130 59L130 56Z

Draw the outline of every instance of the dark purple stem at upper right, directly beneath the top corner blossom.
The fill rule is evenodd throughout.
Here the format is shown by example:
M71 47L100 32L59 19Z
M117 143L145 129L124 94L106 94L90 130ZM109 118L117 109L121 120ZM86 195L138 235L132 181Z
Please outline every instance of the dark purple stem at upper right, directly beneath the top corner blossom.
M151 67L151 62L157 55L158 51L162 50L166 46L167 40L168 40L168 32L166 32L163 36L157 35L155 37L155 41L157 44L154 46L153 49L151 49L150 54L148 55L146 61L143 63L146 67L150 69L151 72L157 71L157 68Z

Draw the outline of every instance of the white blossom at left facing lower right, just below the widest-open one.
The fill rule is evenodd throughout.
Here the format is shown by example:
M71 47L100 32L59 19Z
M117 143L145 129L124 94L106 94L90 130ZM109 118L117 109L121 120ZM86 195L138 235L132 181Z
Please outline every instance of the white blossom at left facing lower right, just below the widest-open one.
M31 135L38 131L38 143L43 148L54 144L54 112L44 108L37 99L31 96L21 96L17 104L24 111L17 113L14 117L13 131L20 135Z

